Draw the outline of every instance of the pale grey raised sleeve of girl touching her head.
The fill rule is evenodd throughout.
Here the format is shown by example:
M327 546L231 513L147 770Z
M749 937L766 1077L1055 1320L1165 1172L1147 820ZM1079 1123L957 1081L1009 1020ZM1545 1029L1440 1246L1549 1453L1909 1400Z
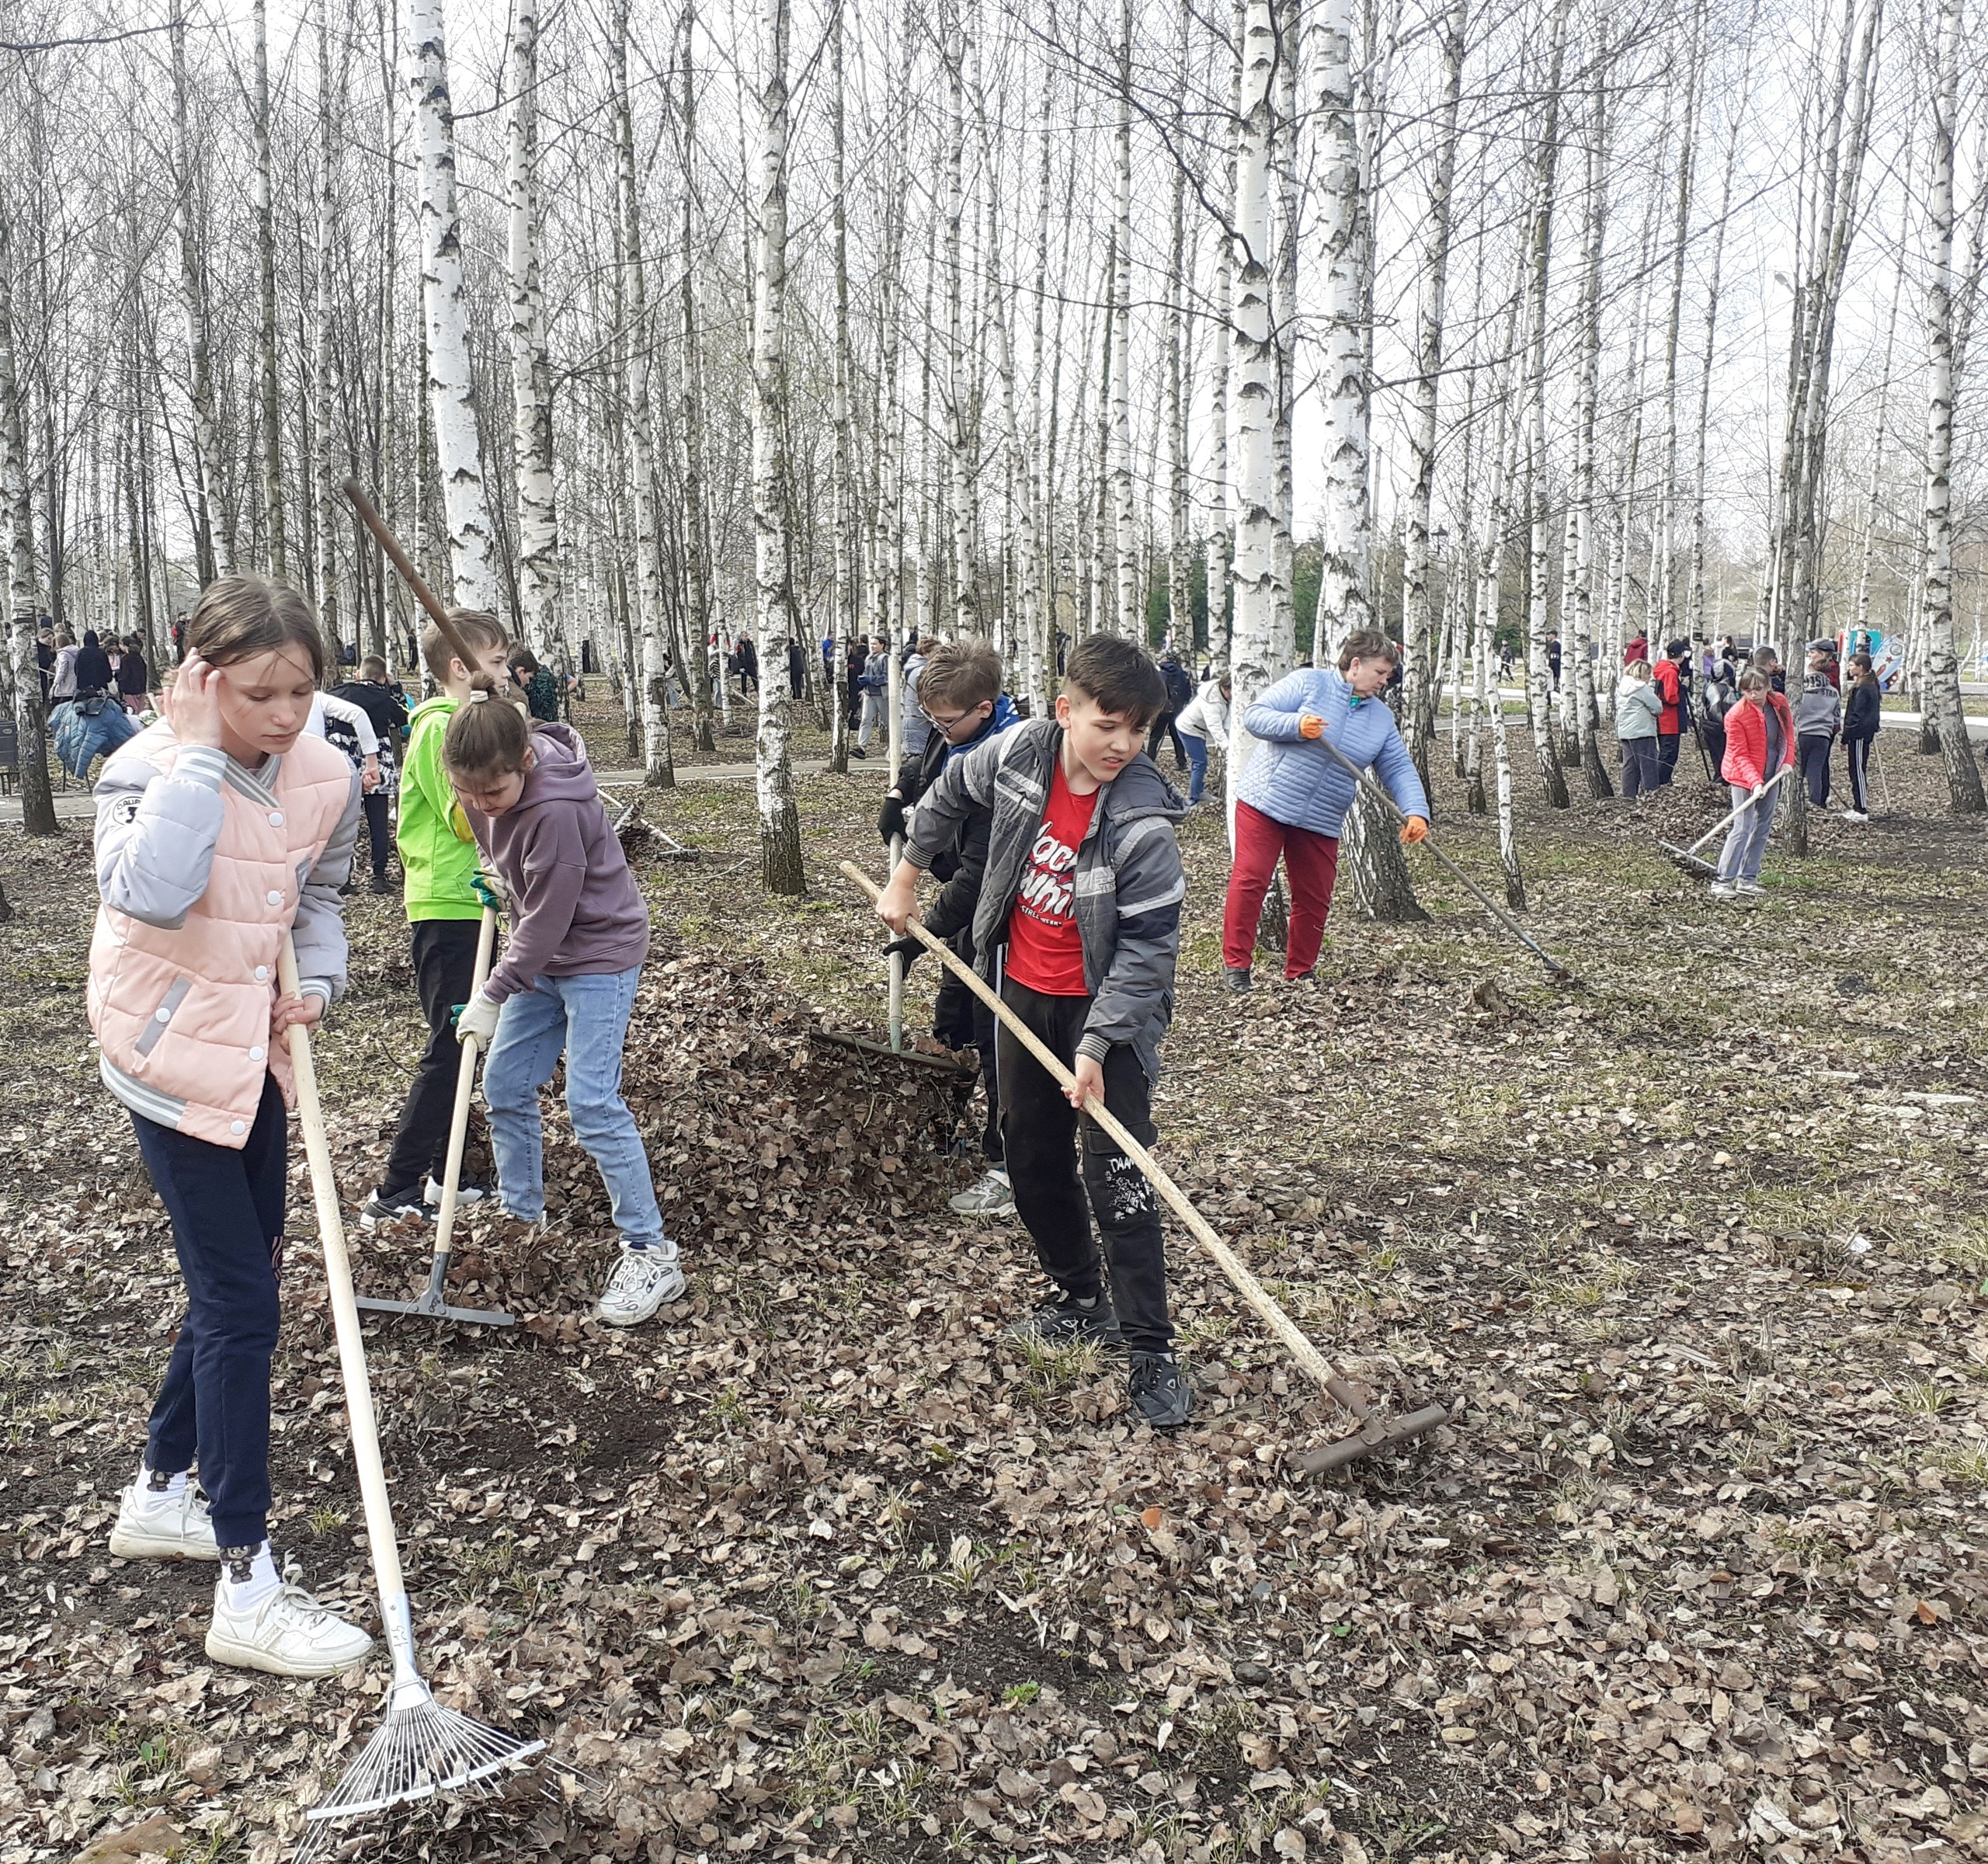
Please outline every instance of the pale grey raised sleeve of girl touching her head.
M227 753L181 745L171 773L111 757L97 779L97 894L111 912L177 932L207 892L221 841Z

